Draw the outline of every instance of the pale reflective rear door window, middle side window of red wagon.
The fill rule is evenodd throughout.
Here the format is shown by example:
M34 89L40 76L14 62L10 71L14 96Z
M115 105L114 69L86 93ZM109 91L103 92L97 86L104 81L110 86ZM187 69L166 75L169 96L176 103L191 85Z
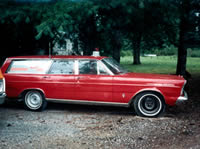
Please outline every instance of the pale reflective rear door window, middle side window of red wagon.
M50 74L74 74L74 60L55 60Z

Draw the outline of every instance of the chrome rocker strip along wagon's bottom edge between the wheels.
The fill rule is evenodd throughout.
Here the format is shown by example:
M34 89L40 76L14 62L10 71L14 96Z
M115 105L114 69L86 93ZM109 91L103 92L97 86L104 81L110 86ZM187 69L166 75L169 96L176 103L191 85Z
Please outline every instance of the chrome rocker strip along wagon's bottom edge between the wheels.
M46 100L49 102L60 102L60 103L129 107L128 103L119 103L119 102L84 101L84 100L52 99L52 98L46 98Z

